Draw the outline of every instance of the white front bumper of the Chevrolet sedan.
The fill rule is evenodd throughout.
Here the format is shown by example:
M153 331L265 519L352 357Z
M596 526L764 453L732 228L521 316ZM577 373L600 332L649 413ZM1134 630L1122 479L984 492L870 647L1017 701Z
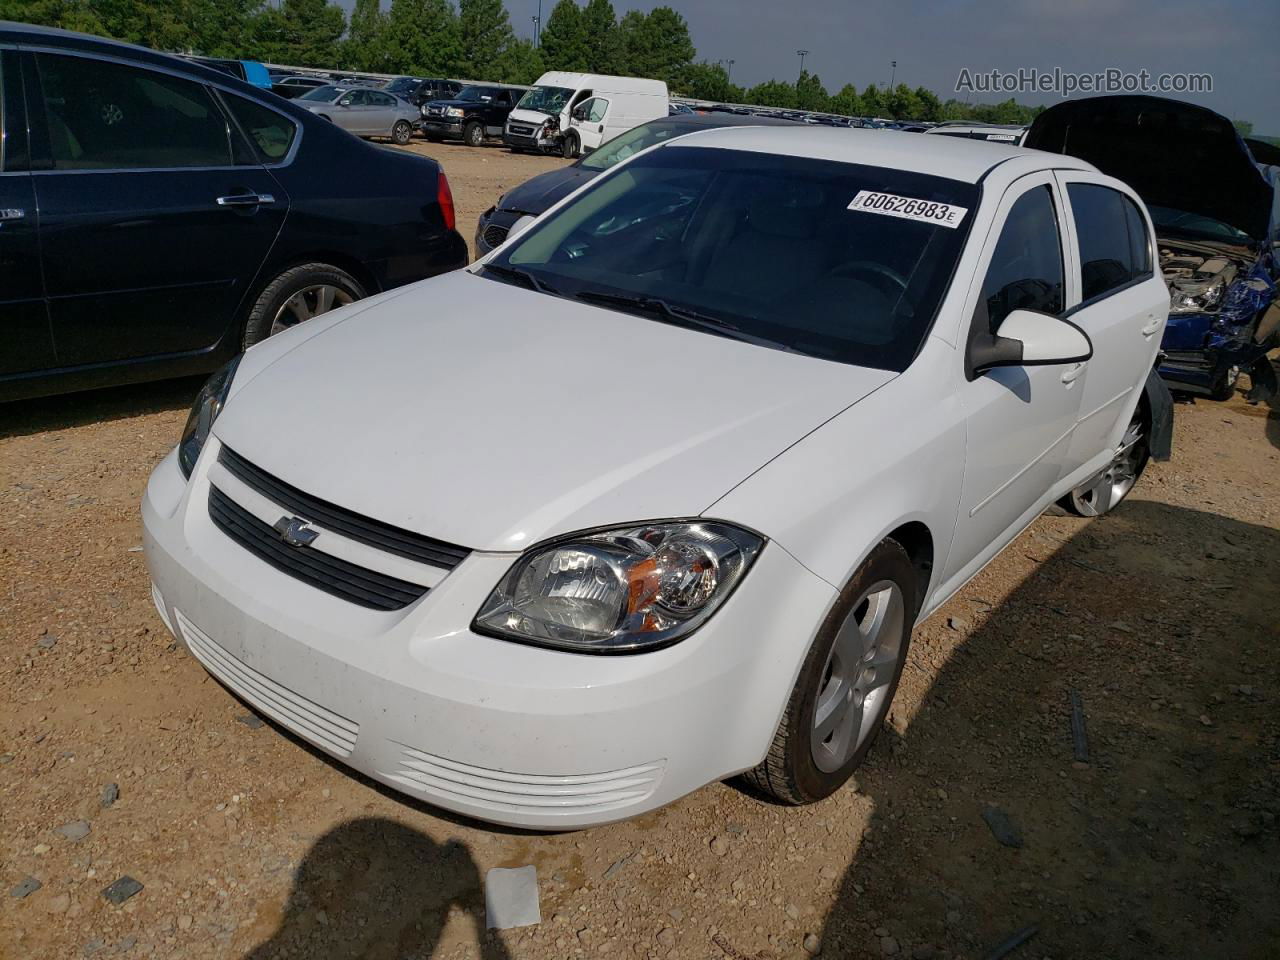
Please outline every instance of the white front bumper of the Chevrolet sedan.
M513 554L472 553L378 612L259 561L207 511L211 438L142 503L156 607L227 687L320 750L438 806L567 829L655 809L764 756L835 590L776 544L701 630L591 657L470 631Z

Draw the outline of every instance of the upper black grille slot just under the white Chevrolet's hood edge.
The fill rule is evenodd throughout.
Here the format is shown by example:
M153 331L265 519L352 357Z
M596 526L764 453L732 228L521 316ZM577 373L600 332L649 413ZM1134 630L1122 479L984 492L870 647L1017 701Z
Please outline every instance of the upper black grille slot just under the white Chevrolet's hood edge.
M228 447L218 454L218 462L227 467L246 485L278 503L282 508L305 520L312 526L333 530L349 540L374 547L397 557L429 563L433 567L453 570L467 554L466 547L444 543L430 536L410 532L401 527L384 524L380 520L352 513L344 507L321 500L319 497L303 493L296 486L271 476L265 470L253 466ZM274 534L273 534L274 535ZM279 539L279 536L276 536Z

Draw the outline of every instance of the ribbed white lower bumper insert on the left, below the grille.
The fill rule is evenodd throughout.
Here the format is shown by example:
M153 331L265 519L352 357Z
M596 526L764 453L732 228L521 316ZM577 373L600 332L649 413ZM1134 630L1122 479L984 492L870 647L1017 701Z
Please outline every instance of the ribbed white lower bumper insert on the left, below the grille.
M356 749L356 737L360 735L358 723L259 673L247 663L232 657L209 634L187 620L182 611L177 613L182 637L196 659L237 696L321 750L338 756L351 756L351 751Z

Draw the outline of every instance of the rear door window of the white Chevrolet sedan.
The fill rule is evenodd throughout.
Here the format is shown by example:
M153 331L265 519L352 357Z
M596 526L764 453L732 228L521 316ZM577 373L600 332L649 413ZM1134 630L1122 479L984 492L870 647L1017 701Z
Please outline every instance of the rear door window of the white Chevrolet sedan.
M1080 244L1085 301L1151 275L1147 224L1129 197L1096 183L1069 183L1066 193Z

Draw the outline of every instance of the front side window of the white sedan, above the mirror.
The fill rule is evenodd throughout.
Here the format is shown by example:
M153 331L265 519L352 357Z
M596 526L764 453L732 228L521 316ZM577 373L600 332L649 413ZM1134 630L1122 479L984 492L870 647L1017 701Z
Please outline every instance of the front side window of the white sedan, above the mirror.
M1062 239L1047 186L1027 191L1010 209L982 296L992 333L1015 310L1062 312Z

